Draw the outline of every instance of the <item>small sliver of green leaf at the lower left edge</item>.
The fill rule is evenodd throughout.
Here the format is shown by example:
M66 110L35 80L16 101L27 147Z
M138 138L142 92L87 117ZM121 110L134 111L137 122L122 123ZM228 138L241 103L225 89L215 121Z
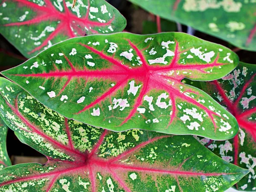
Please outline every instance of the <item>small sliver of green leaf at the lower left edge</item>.
M3 122L3 119L0 118L0 169L12 165L6 150L7 131L7 125Z

